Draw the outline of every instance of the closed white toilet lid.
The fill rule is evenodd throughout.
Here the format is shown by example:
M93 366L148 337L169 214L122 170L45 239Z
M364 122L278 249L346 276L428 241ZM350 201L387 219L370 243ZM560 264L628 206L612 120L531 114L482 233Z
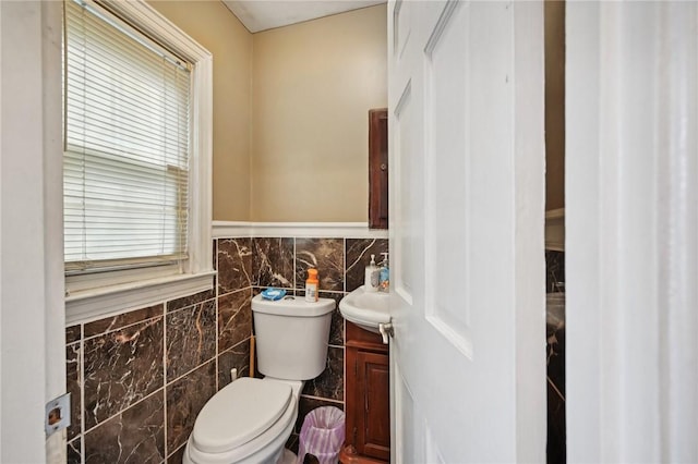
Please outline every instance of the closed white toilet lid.
M268 429L291 401L286 383L243 377L216 393L196 417L192 438L201 451L221 453Z

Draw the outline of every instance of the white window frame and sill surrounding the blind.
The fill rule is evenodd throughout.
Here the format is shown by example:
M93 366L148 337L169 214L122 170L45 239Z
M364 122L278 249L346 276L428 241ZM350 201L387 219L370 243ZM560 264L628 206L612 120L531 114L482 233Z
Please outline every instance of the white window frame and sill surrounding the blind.
M189 258L180 265L65 277L68 323L104 317L213 288L213 56L145 3L85 0L185 59L192 66Z

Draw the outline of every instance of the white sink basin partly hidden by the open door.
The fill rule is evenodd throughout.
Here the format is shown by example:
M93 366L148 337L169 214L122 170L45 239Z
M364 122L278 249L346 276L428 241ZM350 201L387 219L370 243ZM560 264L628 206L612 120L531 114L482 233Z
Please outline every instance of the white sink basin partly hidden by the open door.
M378 323L388 323L389 294L365 292L363 285L349 293L339 302L339 312L350 322L374 333L381 333Z

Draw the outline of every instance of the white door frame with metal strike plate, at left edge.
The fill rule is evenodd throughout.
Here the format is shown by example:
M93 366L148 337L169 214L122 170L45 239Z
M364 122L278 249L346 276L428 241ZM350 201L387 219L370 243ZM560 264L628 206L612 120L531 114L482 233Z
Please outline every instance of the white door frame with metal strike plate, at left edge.
M44 431L65 391L61 14L0 2L1 462L65 462L65 431Z

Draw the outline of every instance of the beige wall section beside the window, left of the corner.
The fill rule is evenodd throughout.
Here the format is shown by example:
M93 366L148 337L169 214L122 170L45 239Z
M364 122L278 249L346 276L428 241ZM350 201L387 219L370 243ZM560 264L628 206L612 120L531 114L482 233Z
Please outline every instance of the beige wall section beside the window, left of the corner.
M214 220L250 219L252 34L220 1L149 0L214 56Z

